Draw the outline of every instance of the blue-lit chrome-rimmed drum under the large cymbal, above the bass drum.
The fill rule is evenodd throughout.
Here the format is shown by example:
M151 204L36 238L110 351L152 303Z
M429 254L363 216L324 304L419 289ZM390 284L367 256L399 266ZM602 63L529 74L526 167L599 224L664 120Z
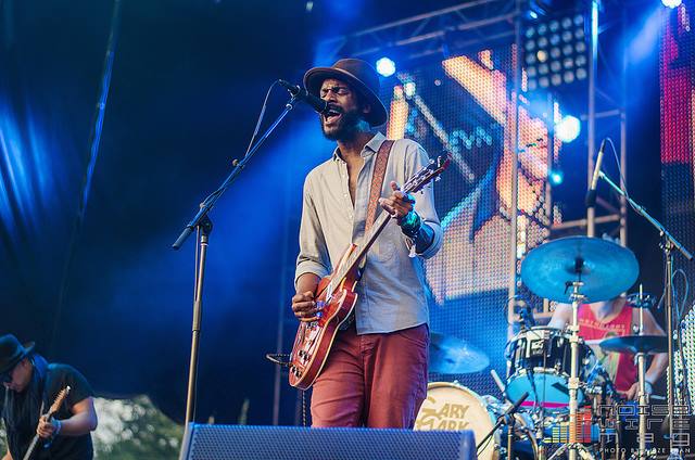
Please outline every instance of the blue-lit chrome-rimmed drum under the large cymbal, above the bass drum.
M531 328L519 332L508 344L506 358L509 365L507 396L520 398L525 392L529 397L522 406L541 404L549 411L564 411L569 406L569 375L571 369L569 333L546 327ZM579 342L580 382L586 379L596 362L591 348ZM578 405L585 399L580 386Z

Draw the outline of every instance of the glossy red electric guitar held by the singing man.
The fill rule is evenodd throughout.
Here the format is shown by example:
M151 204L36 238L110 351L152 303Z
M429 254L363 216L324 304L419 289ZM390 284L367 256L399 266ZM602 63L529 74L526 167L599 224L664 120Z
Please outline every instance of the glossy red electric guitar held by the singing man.
M448 166L448 155L430 159L430 164L415 174L402 188L404 193L421 190ZM307 389L314 384L326 363L340 327L348 321L357 301L355 286L362 276L359 265L375 240L389 223L391 215L381 213L361 246L352 243L343 253L333 272L321 279L314 298L323 305L321 318L300 322L290 356L290 385Z

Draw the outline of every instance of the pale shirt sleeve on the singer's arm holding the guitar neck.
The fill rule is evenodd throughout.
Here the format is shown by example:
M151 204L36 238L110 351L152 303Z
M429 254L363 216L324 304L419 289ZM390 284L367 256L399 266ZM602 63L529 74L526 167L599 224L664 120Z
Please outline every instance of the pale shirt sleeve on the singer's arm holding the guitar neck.
M412 178L417 171L429 165L430 157L417 142L409 141L405 151L405 171L406 177ZM434 187L433 182L428 183L425 188L414 194L415 212L422 219L422 225L428 226L433 231L432 243L422 252L417 253L414 250L415 243L412 239L405 237L406 244L410 251L425 259L432 257L442 246L442 226L434 208Z

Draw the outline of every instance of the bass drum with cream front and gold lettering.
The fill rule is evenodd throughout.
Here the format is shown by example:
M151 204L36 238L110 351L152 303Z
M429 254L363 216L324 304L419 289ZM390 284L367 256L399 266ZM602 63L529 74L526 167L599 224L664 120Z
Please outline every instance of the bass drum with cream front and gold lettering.
M450 382L431 382L427 385L427 398L420 407L415 420L415 430L462 431L470 430L476 436L476 444L480 443L495 425L500 404L491 396L488 403L476 392ZM527 433L532 432L530 420L517 414L515 425L515 457L534 458L535 446L531 444ZM496 460L500 458L501 440L506 446L506 434L497 431L485 447L478 452L480 460ZM533 440L533 439L532 439Z

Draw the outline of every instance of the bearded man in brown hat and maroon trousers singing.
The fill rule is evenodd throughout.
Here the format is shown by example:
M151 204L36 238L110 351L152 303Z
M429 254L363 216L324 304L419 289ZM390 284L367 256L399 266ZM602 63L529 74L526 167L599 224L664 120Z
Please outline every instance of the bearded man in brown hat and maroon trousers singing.
M366 62L345 59L312 68L304 86L328 103L320 125L337 148L304 182L292 297L300 321L320 316L314 302L318 281L351 243L361 243L370 226L369 203L378 201L393 216L367 254L354 321L338 333L314 383L313 425L412 427L427 392L424 259L439 250L442 229L431 186L416 197L400 186L429 157L414 141L391 142L372 131L386 123L387 110L378 97L379 76ZM382 186L370 196L380 177Z

